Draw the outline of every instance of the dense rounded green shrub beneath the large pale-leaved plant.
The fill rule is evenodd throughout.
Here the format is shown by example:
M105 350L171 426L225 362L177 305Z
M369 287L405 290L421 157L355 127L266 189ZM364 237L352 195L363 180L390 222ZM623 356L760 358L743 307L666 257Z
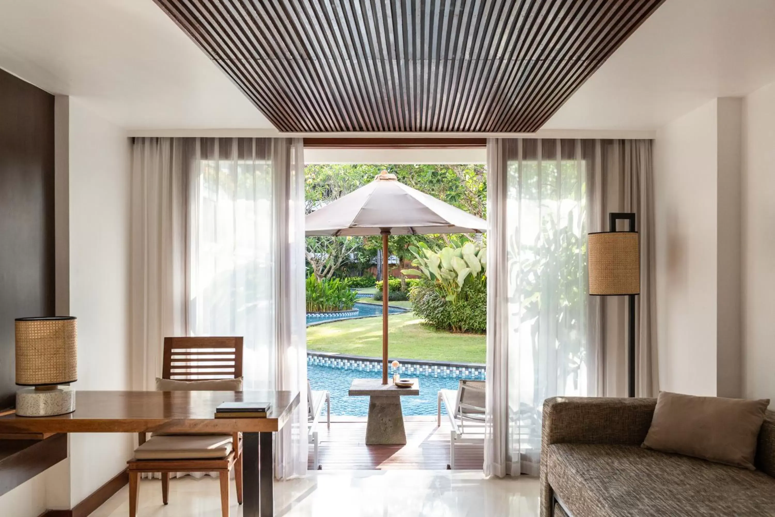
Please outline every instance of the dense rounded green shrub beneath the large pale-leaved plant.
M456 302L449 302L436 286L423 282L412 288L412 310L430 326L452 332L484 333L487 330L487 291L466 284Z

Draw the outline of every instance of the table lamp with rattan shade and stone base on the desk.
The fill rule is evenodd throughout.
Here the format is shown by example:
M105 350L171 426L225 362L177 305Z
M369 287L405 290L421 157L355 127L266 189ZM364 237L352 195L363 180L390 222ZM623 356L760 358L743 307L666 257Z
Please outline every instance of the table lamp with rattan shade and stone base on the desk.
M16 319L16 415L75 411L77 328L74 316Z

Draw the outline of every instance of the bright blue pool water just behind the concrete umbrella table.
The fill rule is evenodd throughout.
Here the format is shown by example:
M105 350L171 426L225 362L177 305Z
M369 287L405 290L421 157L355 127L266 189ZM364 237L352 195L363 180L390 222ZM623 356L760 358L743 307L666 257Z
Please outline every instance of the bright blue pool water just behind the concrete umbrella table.
M332 415L366 416L369 412L369 398L350 397L347 391L350 390L350 383L354 378L381 378L382 372L307 364L307 377L313 390L328 390L331 393ZM420 395L401 397L401 409L404 415L436 415L436 396L439 390L456 390L458 384L456 377L435 377L423 374L411 374L407 377L418 377Z

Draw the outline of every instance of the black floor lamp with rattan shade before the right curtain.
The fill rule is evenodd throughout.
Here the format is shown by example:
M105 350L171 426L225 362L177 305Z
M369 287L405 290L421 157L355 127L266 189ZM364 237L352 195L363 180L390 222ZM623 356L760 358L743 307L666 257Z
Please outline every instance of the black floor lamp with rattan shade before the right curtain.
M616 222L624 219L629 228L616 231ZM635 214L608 214L608 232L590 233L589 294L627 296L629 298L629 396L635 397L635 297L640 294L640 250Z

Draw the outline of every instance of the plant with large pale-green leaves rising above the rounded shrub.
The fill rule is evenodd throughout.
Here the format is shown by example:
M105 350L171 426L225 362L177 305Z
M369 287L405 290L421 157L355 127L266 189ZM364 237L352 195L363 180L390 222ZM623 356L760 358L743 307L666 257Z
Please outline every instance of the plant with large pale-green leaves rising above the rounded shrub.
M460 300L460 292L466 281L483 285L486 281L487 248L477 243L450 240L450 246L437 251L420 243L419 247L410 246L409 250L415 256L412 265L419 267L419 270L405 269L401 273L425 277L436 286L447 302L456 303Z

